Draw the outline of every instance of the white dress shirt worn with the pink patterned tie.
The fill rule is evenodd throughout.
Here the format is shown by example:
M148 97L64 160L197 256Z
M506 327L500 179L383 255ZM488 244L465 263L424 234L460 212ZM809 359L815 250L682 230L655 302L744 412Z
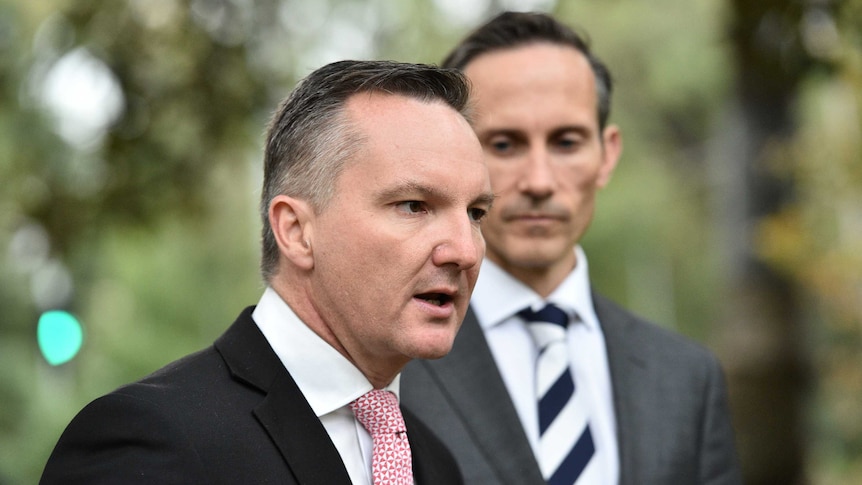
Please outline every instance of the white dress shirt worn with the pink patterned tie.
M371 383L308 328L272 288L264 291L251 316L320 418L350 481L371 485L371 435L350 409L351 402L373 389ZM385 389L399 396L399 382L400 374Z

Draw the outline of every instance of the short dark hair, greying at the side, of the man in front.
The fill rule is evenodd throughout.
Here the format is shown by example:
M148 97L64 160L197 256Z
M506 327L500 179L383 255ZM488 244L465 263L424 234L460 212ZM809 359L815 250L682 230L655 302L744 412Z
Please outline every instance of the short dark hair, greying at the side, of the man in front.
M343 115L359 93L381 93L441 101L468 117L469 83L456 69L393 61L339 61L300 81L270 121L263 167L261 273L267 282L278 266L278 244L269 224L269 204L280 194L300 198L315 211L333 197L344 164L363 142Z

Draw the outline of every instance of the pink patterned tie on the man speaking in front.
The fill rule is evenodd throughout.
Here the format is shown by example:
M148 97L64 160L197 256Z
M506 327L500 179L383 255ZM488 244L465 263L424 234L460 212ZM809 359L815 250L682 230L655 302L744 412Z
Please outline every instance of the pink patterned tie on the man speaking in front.
M410 443L395 394L374 389L350 403L350 409L374 441L374 485L413 485Z

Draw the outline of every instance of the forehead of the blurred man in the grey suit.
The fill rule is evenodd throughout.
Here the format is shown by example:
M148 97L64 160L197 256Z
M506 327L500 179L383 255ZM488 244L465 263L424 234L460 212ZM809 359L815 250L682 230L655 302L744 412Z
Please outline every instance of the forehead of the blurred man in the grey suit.
M482 54L464 69L477 127L597 124L598 95L589 61L573 47L536 43Z

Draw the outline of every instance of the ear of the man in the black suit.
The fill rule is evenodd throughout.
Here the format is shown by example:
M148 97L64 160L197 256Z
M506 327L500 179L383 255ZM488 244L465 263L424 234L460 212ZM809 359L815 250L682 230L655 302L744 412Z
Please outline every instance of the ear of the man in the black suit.
M314 211L307 202L286 195L269 203L269 225L281 256L304 270L314 267L311 251Z

